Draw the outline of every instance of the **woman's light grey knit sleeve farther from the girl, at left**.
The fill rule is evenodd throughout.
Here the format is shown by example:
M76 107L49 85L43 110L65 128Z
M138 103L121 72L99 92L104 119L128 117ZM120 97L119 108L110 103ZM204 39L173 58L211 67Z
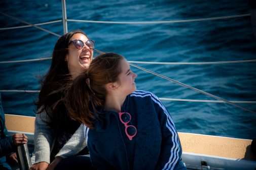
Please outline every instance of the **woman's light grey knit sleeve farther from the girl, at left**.
M36 114L34 123L34 154L35 163L50 163L51 148L55 133L47 124L49 117L45 112Z

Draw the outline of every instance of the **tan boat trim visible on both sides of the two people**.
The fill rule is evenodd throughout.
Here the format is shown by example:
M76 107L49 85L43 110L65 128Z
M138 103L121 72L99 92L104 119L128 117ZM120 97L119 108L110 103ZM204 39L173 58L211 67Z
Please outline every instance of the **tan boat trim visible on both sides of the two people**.
M34 132L35 117L7 114L5 117L9 131ZM252 140L180 132L178 135L183 152L256 161L250 149Z

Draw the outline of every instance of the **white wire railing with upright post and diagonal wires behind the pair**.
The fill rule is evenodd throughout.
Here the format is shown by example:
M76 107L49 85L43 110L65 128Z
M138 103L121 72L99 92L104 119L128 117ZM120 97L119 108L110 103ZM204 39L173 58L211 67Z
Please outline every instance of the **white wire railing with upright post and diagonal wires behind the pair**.
M65 6L65 0L61 1L62 3L62 20L56 20L56 21L50 21L50 22L45 22L45 23L39 23L39 24L31 24L26 21L20 20L16 17L10 16L8 14L5 14L3 12L0 12L0 14L5 15L7 17L10 17L12 19L18 20L22 23L25 23L27 25L25 26L19 26L19 27L9 27L9 28L0 28L0 30L8 30L8 29L18 29L18 28L25 28L25 27L35 27L37 29L40 29L42 31L48 32L50 34L53 34L55 36L60 37L61 35L56 34L54 32L51 32L49 30L46 30L44 28L39 27L40 25L45 25L45 24L52 24L56 22L62 22L63 23L63 32L67 32L67 22L86 22L86 23L101 23L101 24L166 24L166 23L181 23L181 22L197 22L197 21L209 21L209 20L221 20L221 19L231 19L231 18L238 18L238 17L247 17L250 16L250 14L243 14L243 15L234 15L234 16L224 16L224 17L213 17L213 18L201 18L201 19L190 19L190 20L174 20L174 21L145 21L145 22L126 22L126 21L89 21L89 20L71 20L67 19L66 17L66 6ZM100 50L94 49L96 52L99 53L104 53ZM42 61L42 60L51 60L51 57L46 57L46 58L40 58L40 59L29 59L29 60L19 60L19 61L0 61L0 64L10 64L10 63L21 63L21 62L34 62L34 61ZM189 101L189 102L218 102L218 103L229 103L234 106L237 106L239 108L242 108L244 110L253 112L256 114L255 111L247 109L245 107L242 107L240 105L237 105L236 103L256 103L256 101L229 101L224 98L212 95L210 93L207 93L205 91L196 89L194 87L188 86L184 83L180 83L176 80L170 79L168 77L165 77L163 75L160 75L158 73L152 72L150 70L144 69L142 67L139 67L135 64L162 64L162 65L209 65L209 64L231 64L231 63L251 63L251 62L256 62L256 60L241 60L241 61L225 61L225 62L198 62L198 63L168 63L168 62L139 62L139 61L129 61L130 65L133 67L136 67L138 69L141 69L143 71L146 71L148 73L154 74L156 76L159 76L161 78L164 78L168 81L172 81L176 84L179 84L181 86L190 88L192 90L195 90L197 92L203 93L205 95L208 95L210 97L213 97L217 100L192 100L192 99L171 99L171 98L160 98L161 100L170 100L170 101ZM134 64L135 63L135 64ZM27 93L38 93L40 90L0 90L0 92L27 92Z

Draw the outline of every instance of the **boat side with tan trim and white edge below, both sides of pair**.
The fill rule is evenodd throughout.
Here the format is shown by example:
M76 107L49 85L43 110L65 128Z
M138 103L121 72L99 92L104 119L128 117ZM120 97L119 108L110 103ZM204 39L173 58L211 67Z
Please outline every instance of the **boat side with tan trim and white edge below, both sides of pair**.
M6 126L10 133L24 132L33 143L34 117L5 115ZM256 169L256 155L251 152L248 139L237 139L178 132L182 159L188 169L207 169L202 162L208 163L210 169ZM225 167L225 168L220 168Z

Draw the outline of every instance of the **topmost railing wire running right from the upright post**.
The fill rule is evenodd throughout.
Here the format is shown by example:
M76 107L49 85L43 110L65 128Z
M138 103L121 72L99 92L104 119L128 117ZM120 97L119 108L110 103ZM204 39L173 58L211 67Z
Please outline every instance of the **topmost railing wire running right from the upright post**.
M227 18L247 17L250 14L232 15L226 17L213 17L213 18L201 18L192 20L176 20L176 21L142 21L142 22L123 22L123 21L89 21L89 20L69 20L70 22L87 22L87 23L101 23L101 24L164 24L164 23L180 23L180 22L195 22L195 21L208 21L208 20L220 20Z

